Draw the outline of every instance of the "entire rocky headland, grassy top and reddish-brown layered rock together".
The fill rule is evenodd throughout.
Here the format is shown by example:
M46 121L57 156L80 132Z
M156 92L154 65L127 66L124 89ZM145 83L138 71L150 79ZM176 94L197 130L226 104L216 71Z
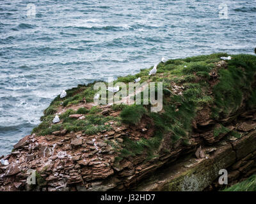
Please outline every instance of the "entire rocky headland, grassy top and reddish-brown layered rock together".
M95 83L56 97L42 123L1 157L8 164L0 164L0 191L202 191L218 189L223 168L229 184L249 177L256 171L256 57L222 56L171 59L154 76L142 69L115 81L162 82L157 113L150 105L95 106ZM28 170L36 170L34 185Z

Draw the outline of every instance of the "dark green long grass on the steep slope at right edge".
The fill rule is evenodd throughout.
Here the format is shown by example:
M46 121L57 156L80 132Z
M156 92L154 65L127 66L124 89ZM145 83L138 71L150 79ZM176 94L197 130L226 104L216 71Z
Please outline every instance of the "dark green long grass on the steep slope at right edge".
M252 55L232 55L227 69L220 69L220 83L213 87L215 105L213 112L216 119L227 117L241 106L244 93L252 93L253 76L256 71L256 59ZM248 105L255 104L252 94Z

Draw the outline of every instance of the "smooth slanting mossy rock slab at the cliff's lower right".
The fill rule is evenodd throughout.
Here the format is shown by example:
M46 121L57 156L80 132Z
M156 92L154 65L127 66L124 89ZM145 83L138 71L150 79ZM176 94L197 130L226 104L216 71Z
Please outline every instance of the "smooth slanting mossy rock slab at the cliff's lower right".
M251 147L248 149L248 147ZM253 148L252 148L253 147ZM243 149L244 152L240 152ZM204 150L204 149L203 149ZM238 151L237 151L238 150ZM236 142L216 143L205 149L207 158L185 157L141 182L137 191L204 191L218 186L219 171L227 169L228 185L256 172L256 131ZM238 156L238 157L237 157Z

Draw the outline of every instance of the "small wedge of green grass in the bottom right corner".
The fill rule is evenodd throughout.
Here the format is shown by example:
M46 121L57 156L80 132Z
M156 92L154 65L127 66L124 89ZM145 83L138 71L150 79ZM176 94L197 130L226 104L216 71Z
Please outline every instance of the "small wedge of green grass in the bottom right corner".
M256 191L256 175L252 175L250 178L234 186L227 187L223 191Z

